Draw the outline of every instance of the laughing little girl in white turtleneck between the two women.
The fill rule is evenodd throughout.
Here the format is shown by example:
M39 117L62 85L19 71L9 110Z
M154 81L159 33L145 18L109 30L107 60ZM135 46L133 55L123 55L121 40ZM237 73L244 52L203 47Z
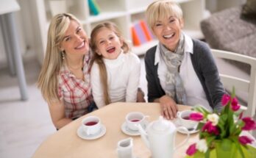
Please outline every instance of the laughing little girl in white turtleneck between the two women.
M135 102L141 62L129 53L129 46L117 26L110 22L97 25L91 32L90 44L94 52L90 77L97 107L113 102Z

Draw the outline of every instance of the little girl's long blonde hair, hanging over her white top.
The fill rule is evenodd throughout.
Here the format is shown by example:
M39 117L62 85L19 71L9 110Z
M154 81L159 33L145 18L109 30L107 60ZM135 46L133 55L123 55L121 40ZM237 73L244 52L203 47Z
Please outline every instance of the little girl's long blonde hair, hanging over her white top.
M123 41L123 46L121 46L121 49L124 50L124 53L127 53L129 51L129 45L124 40L124 37L121 35L121 32L119 31L118 27L111 22L104 22L102 24L98 24L96 27L94 27L94 29L92 30L92 32L90 34L90 47L93 51L93 60L92 60L91 64L93 64L93 62L96 62L99 65L99 76L100 76L100 79L102 82L102 87L103 87L104 103L107 105L107 104L110 104L111 101L110 101L110 96L108 94L106 65L104 64L102 55L99 55L96 53L96 49L97 49L96 36L99 34L101 29L103 29L103 28L110 29L111 31L113 31L115 33L115 35L118 36L118 38L121 41Z

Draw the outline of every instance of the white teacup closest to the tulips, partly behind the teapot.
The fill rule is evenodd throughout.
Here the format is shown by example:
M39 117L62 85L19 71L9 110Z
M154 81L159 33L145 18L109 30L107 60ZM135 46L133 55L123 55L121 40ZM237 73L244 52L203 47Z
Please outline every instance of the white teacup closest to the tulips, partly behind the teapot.
M192 110L184 110L181 112L177 112L177 117L179 119L179 123L181 124L181 126L185 126L185 128L187 128L187 129L195 129L197 127L198 122L191 121L189 118L189 116L193 112L194 111L192 111Z

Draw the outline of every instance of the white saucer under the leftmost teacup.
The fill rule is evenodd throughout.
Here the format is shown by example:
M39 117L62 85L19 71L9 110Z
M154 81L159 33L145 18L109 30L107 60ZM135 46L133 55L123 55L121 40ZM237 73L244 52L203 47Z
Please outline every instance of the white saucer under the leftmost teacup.
M84 140L95 140L99 137L102 137L105 133L106 133L106 127L104 125L101 126L101 131L99 133L93 134L93 135L86 134L82 129L82 126L79 126L79 128L77 129L77 135Z

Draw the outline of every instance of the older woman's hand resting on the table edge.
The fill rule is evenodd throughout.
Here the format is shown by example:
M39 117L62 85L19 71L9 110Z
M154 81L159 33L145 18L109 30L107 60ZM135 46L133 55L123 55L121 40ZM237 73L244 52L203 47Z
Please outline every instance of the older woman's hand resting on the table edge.
M174 99L169 96L159 98L161 115L168 120L177 118L178 107Z

